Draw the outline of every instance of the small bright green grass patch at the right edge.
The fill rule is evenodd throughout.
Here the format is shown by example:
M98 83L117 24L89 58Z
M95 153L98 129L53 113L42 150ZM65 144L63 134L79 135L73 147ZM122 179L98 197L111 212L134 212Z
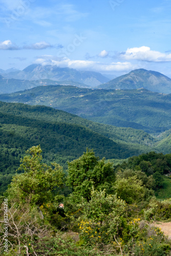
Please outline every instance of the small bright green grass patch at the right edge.
M159 200L171 198L171 179L164 177L163 187L156 191L156 197Z

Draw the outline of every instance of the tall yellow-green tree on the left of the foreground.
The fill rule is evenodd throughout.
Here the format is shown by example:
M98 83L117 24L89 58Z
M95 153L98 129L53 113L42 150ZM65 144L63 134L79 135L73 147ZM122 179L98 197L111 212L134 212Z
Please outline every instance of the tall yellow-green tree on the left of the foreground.
M50 202L53 191L63 185L62 167L53 162L51 166L42 163L40 145L33 146L26 151L26 156L21 159L18 168L21 174L16 174L7 190L10 199L31 205L40 206Z

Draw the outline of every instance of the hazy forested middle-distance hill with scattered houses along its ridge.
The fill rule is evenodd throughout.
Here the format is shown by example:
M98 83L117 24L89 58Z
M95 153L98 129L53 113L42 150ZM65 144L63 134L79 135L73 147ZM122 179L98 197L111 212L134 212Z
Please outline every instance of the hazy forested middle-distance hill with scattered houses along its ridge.
M6 102L52 106L55 109L119 127L148 133L171 129L171 95L137 90L92 90L72 86L39 86L0 95Z

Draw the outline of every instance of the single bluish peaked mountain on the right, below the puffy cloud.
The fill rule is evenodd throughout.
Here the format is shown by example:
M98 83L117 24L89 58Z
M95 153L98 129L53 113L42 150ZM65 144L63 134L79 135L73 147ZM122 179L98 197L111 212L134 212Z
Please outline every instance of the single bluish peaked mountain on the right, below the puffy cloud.
M144 88L152 92L167 94L171 93L171 79L156 71L137 69L101 84L98 88L106 90Z

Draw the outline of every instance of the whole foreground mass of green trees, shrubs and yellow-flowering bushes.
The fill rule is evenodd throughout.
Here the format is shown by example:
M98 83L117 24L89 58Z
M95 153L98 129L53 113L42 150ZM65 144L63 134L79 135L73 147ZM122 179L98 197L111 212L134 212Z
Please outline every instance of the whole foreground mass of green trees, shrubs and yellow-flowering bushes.
M170 199L158 201L154 196L153 175L140 168L115 172L111 163L87 150L68 163L73 193L65 196L62 168L44 164L40 146L26 152L18 169L24 173L13 177L1 197L2 255L171 255L170 240L152 224L171 219ZM4 253L7 199L9 244Z

